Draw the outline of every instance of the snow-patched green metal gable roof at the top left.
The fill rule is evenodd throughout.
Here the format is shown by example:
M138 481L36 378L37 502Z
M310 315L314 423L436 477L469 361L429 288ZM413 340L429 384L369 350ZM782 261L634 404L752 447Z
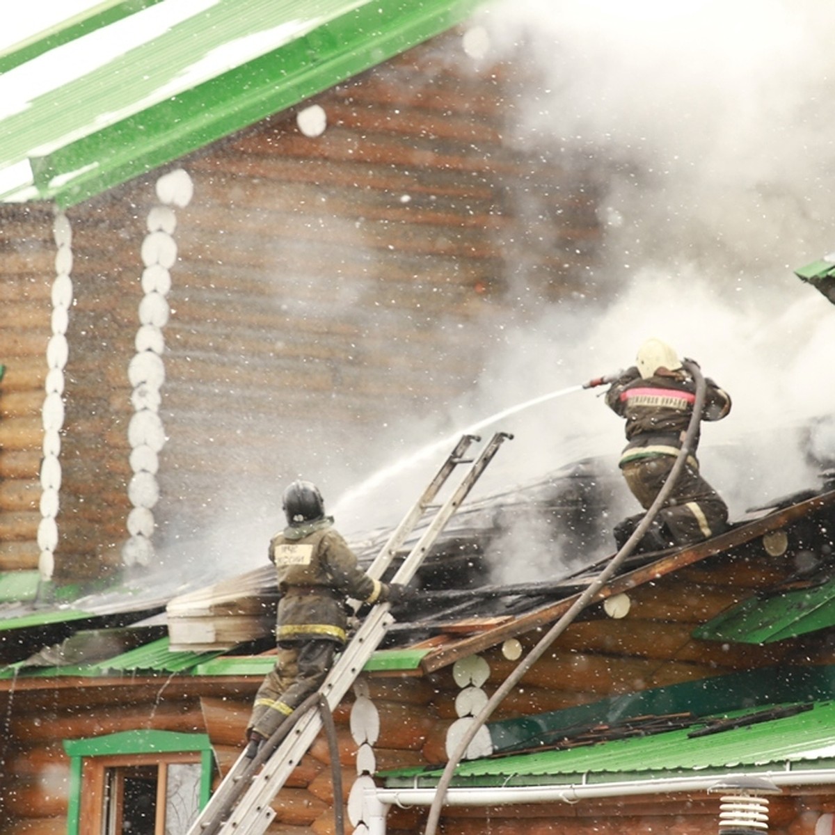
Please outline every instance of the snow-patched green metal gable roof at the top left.
M382 63L479 2L100 3L0 55L0 200L87 200Z

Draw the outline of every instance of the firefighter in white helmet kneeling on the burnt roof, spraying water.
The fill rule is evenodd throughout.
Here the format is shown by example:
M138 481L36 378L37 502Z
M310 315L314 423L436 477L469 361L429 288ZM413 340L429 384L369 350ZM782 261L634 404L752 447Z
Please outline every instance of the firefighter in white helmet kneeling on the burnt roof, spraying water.
M628 368L606 392L606 403L626 418L627 444L620 470L630 491L645 510L655 501L681 450L696 400L696 382L676 352L659 339L640 346L637 364ZM716 421L731 411L731 397L706 378L701 420ZM721 534L728 509L721 496L699 473L698 434L676 484L639 544L659 550L691 544ZM622 547L644 514L615 526Z

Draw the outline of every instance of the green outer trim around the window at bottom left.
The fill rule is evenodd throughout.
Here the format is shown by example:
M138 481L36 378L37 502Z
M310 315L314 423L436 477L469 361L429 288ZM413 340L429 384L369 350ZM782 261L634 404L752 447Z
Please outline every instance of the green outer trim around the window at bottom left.
M114 757L131 754L181 754L200 752L200 808L211 794L212 747L205 733L175 731L119 731L89 739L65 739L63 750L70 757L67 835L78 835L81 815L84 757Z

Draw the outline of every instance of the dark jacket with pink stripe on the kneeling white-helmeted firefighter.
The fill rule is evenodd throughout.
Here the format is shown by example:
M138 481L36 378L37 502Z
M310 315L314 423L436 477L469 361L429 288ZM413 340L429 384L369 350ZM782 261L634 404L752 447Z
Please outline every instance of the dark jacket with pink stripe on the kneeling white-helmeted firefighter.
M685 370L660 371L646 379L627 369L606 392L606 403L626 418L626 440L620 466L639 458L678 455L696 402L696 381ZM705 379L701 420L716 421L731 411L731 397ZM692 452L696 453L698 437Z

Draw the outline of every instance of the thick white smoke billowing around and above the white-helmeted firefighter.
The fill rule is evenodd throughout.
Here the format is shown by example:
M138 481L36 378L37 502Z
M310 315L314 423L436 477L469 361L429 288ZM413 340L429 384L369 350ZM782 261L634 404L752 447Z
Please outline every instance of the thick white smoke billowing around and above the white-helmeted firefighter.
M512 0L478 25L490 43L483 60L530 62L539 78L508 102L506 139L595 172L604 238L584 291L561 304L544 306L524 273L509 275L515 321L449 425L631 365L640 342L660 337L733 398L700 448L731 519L818 487L807 453L835 457L835 310L792 271L835 249L835 8ZM595 393L497 425L515 438L481 492L590 455L614 460L622 423ZM811 438L795 432L819 418ZM527 579L521 569L515 579Z

